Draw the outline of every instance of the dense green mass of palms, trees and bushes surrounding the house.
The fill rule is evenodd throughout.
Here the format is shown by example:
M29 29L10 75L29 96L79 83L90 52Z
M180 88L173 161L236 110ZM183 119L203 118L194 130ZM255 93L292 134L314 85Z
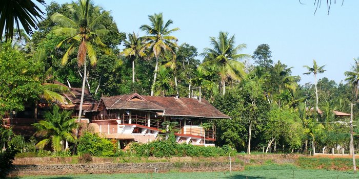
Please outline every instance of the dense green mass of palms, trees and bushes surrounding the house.
M42 14L33 8L34 17ZM0 115L9 117L12 123L13 114L26 105L37 106L38 100L47 100L53 106L45 120L34 124L35 139L24 137L16 141L35 141L38 153L42 149L62 151L66 143L72 143L71 147L77 145L77 149L72 149L78 154L116 155L116 144L101 136L78 133L71 111L57 107L67 103L61 94L69 92L68 87L81 87L80 107L83 99L89 97L84 95L87 88L94 99L130 93L198 97L232 118L215 120L216 145L222 148L167 148L172 145L170 141L133 145L146 156L160 156L153 150L155 147L171 149L163 153L166 156L176 152L175 155L196 155L189 151L224 155L224 148L246 153L312 153L315 149L318 152L323 148L349 148L348 117L336 116L333 111L350 113L349 104L357 100L359 59L354 59L352 69L345 72L347 82L340 83L327 77L318 79L318 74L326 75L325 64L321 66L313 60L313 65L304 68L308 70L305 74L314 75L314 82L302 84L301 78L292 74L297 66L272 59L269 44L258 44L252 55L243 54L246 44L237 40L240 36L221 31L209 37L207 48L198 50L188 43L177 44L173 32L179 28L172 28L176 27L175 21L165 20L165 15L154 13L148 16L148 25L133 27L133 31L139 28L145 33L141 36L120 32L110 12L91 1L51 2L31 37L26 36L27 29L24 32L8 28L5 39L13 42L0 42L0 84L7 84L0 85ZM1 14L0 21L2 18L9 17ZM1 23L0 27L7 28ZM120 48L121 44L124 48ZM54 81L68 87L55 85ZM355 124L358 109L359 105L353 108ZM81 108L77 119L82 114ZM73 135L74 131L78 136ZM15 144L9 139L15 136L11 129L1 125L1 132L4 135L0 142L7 151L33 151L25 145L12 147ZM354 127L354 133L357 132ZM355 148L359 148L358 136L354 138Z

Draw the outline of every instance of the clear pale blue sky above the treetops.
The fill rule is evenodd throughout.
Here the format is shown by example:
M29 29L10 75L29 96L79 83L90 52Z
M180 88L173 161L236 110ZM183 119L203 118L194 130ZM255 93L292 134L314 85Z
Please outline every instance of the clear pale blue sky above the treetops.
M46 0L47 4L51 1ZM59 4L69 0L56 1ZM170 28L180 30L172 35L178 44L189 43L202 53L211 48L209 38L220 31L235 34L236 44L245 43L241 53L253 55L258 45L269 44L272 60L293 67L292 75L301 77L301 84L313 83L313 75L303 65L326 65L324 74L336 83L345 82L345 71L351 70L353 58L359 57L359 1L332 1L327 15L326 1L314 15L314 0L288 1L212 1L212 0L94 0L95 5L111 11L121 32L135 32L149 24L148 15L162 12L164 20L172 19ZM43 8L45 9L45 8ZM203 57L198 56L198 59ZM250 60L254 63L253 60Z

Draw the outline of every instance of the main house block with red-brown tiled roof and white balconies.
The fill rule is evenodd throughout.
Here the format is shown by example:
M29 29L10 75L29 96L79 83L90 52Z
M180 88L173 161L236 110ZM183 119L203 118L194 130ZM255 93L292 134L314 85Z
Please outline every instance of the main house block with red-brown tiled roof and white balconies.
M168 130L174 131L178 143L214 145L213 119L230 119L206 100L137 93L102 97L85 114L96 132L118 140L122 147L130 141L156 140Z

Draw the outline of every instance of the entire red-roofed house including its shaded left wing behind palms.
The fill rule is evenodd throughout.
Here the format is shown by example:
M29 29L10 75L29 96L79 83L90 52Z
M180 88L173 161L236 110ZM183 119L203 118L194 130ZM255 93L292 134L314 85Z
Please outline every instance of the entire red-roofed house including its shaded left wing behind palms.
M59 104L63 109L74 110L78 116L81 88L70 88L64 94L69 101ZM31 124L43 119L44 111L50 106L39 101L35 117L34 107L13 114L13 130L31 136L35 129ZM179 98L178 96L142 96L137 93L102 97L96 101L85 90L82 123L88 123L95 132L108 139L115 139L125 147L131 141L150 142L159 136L166 136L172 130L178 143L194 145L214 145L216 140L213 119L230 119L213 107L205 99ZM10 118L4 119L9 126Z

